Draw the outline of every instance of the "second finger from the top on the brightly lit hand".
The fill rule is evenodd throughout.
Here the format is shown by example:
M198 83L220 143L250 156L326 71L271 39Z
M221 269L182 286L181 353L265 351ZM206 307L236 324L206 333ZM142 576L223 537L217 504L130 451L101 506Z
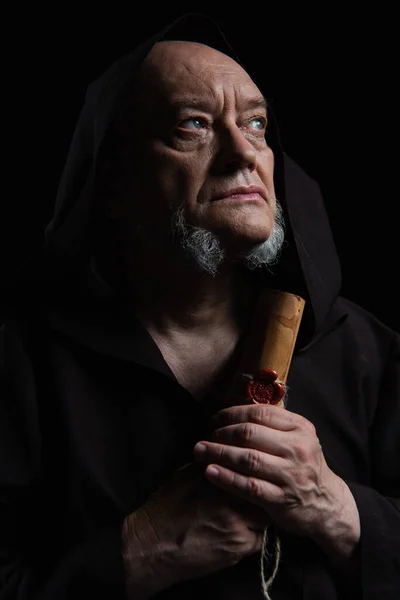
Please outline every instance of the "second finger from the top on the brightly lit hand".
M253 448L282 457L286 456L292 437L293 433L269 429L249 422L221 427L213 431L210 436L211 441L218 444Z

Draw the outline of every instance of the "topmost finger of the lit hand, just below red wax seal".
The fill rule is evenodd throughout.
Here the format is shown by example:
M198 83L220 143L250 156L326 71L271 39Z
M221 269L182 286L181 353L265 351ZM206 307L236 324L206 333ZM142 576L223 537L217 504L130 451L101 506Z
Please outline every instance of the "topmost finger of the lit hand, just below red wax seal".
M281 406L246 404L244 406L230 406L220 410L213 415L211 425L219 428L235 423L243 423L244 421L257 423L279 431L293 431L306 419Z

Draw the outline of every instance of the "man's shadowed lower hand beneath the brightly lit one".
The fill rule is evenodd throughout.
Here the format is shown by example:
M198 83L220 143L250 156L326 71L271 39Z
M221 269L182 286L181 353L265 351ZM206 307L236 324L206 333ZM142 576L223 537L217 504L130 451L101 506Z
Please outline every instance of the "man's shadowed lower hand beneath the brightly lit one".
M185 465L125 519L128 597L145 600L237 564L261 550L267 524L263 509L214 489L201 468Z

